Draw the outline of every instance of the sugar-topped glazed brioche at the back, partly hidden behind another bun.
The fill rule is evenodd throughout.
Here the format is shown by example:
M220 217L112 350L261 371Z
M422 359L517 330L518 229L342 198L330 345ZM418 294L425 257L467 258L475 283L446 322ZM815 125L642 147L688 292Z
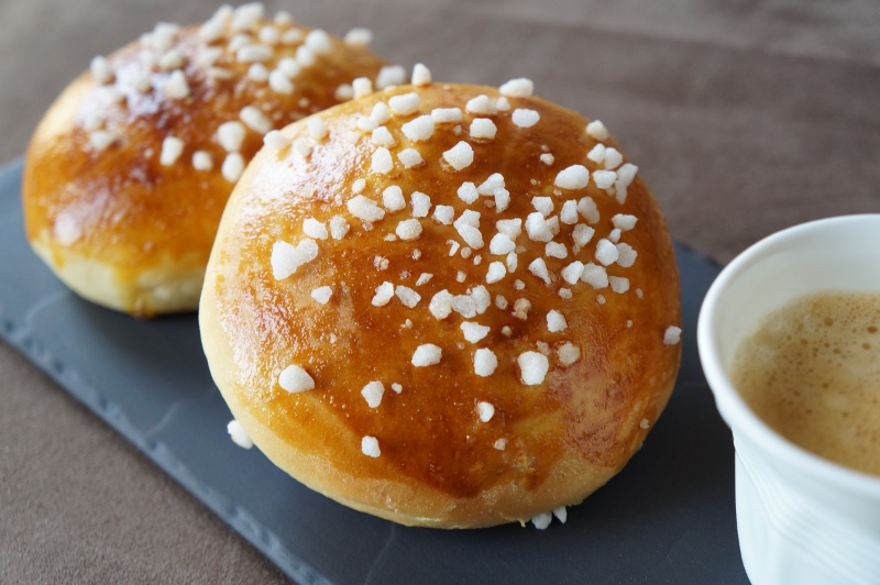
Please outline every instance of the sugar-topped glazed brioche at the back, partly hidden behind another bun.
M28 150L33 249L100 305L140 316L194 310L245 164L271 130L351 98L353 82L372 84L383 62L369 36L355 30L343 41L286 13L268 20L251 3L200 26L160 23L96 57ZM400 71L386 68L380 81L398 82Z

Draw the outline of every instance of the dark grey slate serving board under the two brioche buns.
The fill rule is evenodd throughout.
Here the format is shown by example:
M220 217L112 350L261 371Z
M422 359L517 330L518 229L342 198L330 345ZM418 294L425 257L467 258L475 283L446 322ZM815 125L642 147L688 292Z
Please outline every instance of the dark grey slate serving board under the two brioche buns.
M136 321L66 289L31 252L21 162L0 170L0 335L299 583L748 583L730 433L696 353L718 267L684 246L684 357L629 465L565 525L440 531L344 508L228 438L195 316Z

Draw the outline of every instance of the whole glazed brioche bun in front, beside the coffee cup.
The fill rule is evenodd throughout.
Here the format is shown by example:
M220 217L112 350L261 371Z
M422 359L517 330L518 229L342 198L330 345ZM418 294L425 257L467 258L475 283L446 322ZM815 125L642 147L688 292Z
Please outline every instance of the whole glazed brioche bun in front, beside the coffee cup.
M414 77L257 153L208 264L205 351L248 435L312 489L405 525L546 527L670 397L671 241L601 122L526 79Z

